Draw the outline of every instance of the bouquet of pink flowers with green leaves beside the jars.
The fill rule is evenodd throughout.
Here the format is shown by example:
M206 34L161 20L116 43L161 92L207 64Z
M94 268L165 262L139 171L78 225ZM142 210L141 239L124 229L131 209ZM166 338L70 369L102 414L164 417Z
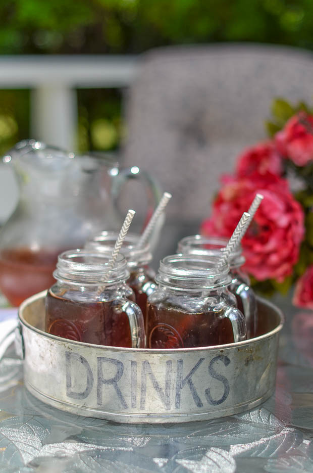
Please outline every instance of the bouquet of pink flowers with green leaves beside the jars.
M222 176L201 233L230 236L256 192L262 205L242 240L245 269L262 293L287 293L313 309L313 110L277 99L270 139L245 150L233 175Z

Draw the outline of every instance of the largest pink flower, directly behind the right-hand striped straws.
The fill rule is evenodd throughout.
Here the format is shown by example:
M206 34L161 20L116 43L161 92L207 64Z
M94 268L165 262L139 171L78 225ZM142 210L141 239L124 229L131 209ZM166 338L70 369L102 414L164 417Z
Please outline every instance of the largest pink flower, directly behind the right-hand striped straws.
M256 192L264 195L242 246L245 269L258 280L283 281L292 273L303 239L303 211L281 177L255 172L248 177L223 178L212 217L201 225L203 234L230 236Z

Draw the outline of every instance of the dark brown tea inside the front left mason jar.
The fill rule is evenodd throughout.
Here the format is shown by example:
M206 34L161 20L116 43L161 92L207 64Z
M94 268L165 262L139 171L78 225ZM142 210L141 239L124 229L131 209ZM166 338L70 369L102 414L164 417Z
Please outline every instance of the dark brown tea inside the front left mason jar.
M118 301L78 302L46 297L45 330L58 337L115 347L131 347L128 317Z

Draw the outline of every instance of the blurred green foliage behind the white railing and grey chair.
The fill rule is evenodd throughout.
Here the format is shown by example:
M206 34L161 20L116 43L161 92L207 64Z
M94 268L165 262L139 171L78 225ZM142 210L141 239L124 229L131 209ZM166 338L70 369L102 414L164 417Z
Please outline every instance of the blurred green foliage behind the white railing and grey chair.
M0 3L0 54L137 54L161 45L216 41L257 41L313 49L313 2L6 0ZM12 95L2 100L9 92L1 92L0 149L14 143L16 138L29 135L27 118L20 111L28 94L18 93L17 101ZM98 97L98 92L78 92L78 143L82 150L114 149L121 137L121 94L103 92L102 106ZM7 117L4 127L11 129L11 138L8 132L1 134L4 117Z

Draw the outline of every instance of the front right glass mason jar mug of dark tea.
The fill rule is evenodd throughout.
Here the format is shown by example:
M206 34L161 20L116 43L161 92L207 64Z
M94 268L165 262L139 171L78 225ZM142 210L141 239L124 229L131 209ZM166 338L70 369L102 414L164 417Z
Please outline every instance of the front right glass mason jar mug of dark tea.
M148 297L147 348L191 348L239 342L245 318L223 298L231 277L219 258L171 255L160 262Z

